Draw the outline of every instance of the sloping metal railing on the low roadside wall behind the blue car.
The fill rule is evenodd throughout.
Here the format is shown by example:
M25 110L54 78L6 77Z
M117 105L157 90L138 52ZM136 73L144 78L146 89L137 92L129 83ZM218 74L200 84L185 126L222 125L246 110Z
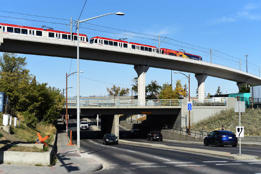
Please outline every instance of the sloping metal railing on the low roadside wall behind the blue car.
M169 125L163 125L162 129L171 129L173 130L173 132L176 133L181 133L181 134L189 134L189 129L186 127L177 127L177 126L169 126ZM203 131L203 130L198 130L198 129L190 129L190 135L191 136L195 136L195 137L199 137L199 138L205 138L206 136L208 136L208 131Z

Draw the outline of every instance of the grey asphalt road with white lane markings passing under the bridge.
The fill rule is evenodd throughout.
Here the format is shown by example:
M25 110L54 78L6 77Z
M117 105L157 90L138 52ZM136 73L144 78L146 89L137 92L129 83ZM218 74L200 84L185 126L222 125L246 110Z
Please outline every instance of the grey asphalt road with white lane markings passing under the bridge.
M73 120L72 120L73 121ZM96 121L96 119L95 119ZM70 125L76 125L75 123ZM76 128L72 128L75 130ZM261 173L261 161L237 161L205 155L178 152L173 150L154 149L131 145L103 145L100 131L92 127L81 131L81 149L93 155L105 164L105 169L98 174L257 174ZM121 132L128 132L121 128ZM127 138L130 138L127 135ZM204 147L199 144L174 142L151 142L146 139L129 139L131 141L164 143L172 146L210 148L223 150L229 147ZM223 148L223 149L222 149ZM229 148L231 150L237 148ZM247 153L251 149L246 148ZM260 151L260 149L258 149ZM218 153L218 152L217 152ZM237 152L238 153L238 152ZM256 154L260 152L256 152Z

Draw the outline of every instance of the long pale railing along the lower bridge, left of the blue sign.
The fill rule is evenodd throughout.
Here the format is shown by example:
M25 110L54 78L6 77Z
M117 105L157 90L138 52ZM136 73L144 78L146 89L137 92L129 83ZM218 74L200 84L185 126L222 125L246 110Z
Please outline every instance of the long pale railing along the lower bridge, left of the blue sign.
M68 106L76 106L76 99L68 99ZM181 106L180 99L80 99L80 106Z

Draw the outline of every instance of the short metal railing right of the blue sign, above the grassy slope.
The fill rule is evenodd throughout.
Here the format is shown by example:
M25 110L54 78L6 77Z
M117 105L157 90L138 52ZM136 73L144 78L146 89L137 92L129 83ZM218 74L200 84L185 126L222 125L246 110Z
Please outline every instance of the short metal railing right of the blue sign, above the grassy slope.
M227 98L220 99L193 99L193 106L226 106Z

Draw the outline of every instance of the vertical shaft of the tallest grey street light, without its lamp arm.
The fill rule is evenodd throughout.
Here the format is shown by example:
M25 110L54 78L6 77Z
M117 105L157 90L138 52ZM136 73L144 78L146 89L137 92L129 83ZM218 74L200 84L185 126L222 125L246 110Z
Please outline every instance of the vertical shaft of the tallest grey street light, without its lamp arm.
M79 20L77 20L77 152L80 153L80 72L79 72Z

